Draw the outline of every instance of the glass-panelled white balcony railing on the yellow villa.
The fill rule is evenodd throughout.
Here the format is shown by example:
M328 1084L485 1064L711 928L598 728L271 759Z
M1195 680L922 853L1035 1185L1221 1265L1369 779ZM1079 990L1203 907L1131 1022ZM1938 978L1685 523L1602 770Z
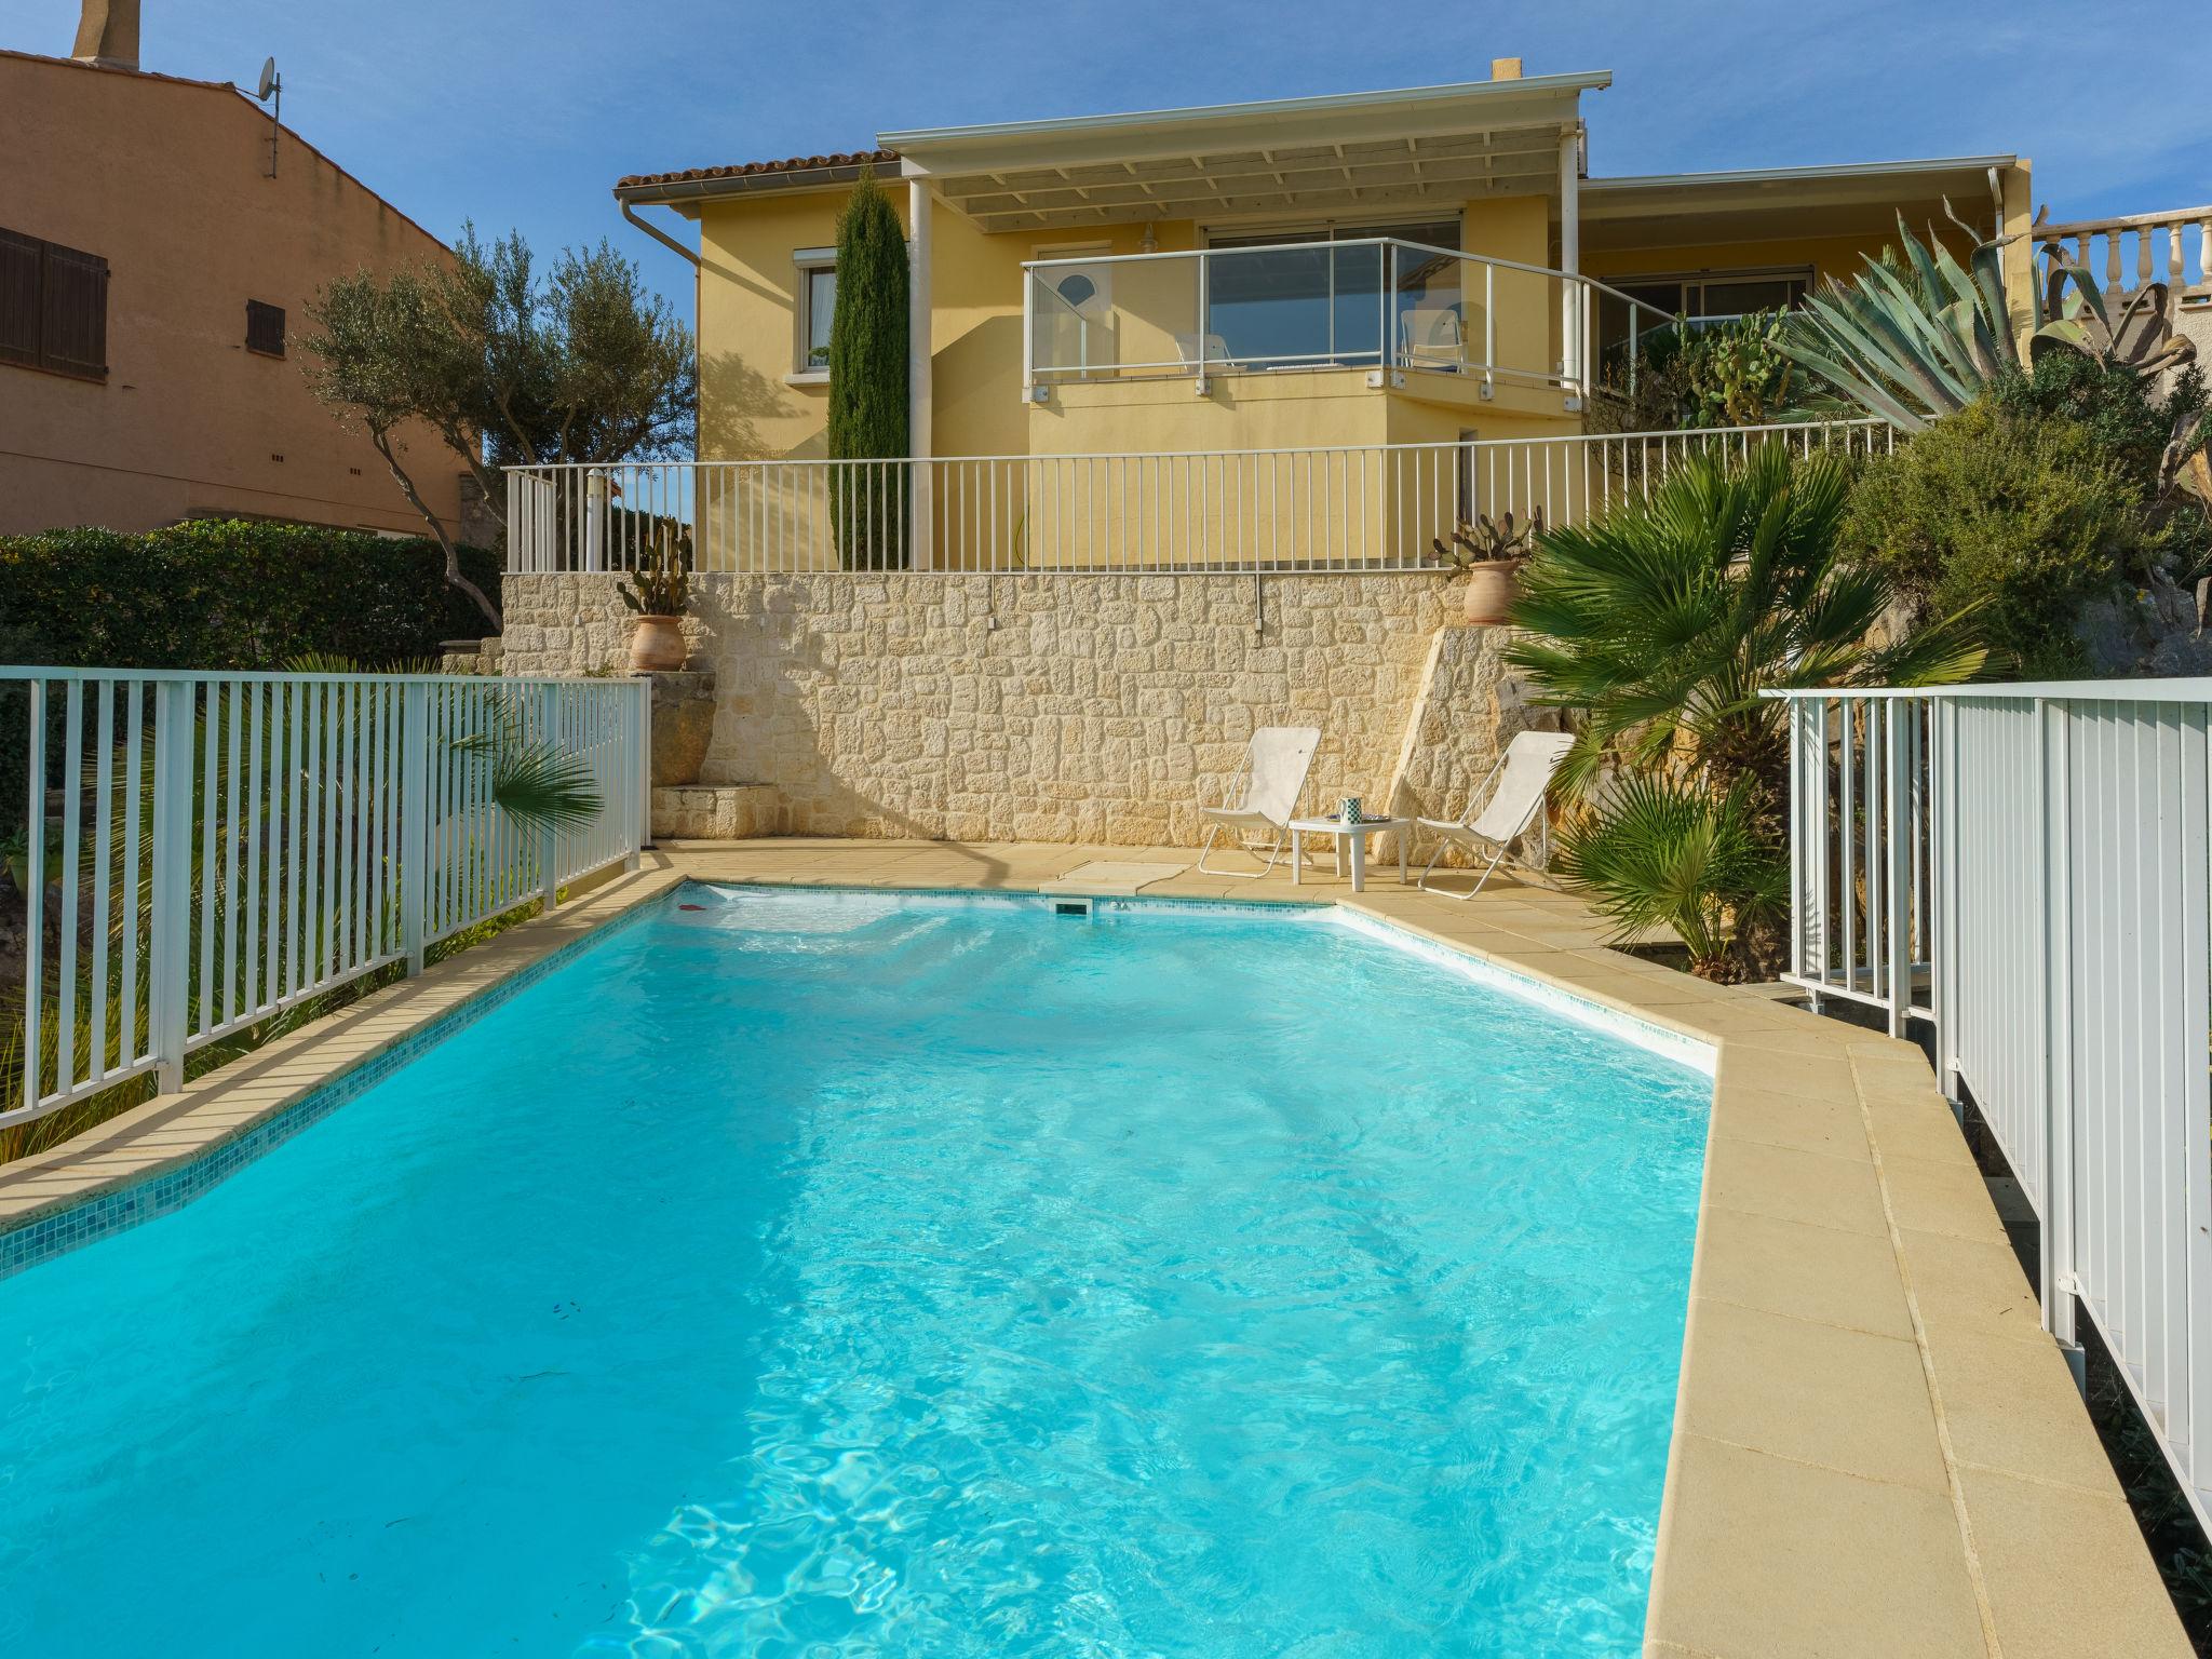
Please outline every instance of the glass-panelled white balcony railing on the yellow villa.
M1599 338L1672 323L1593 276L1394 237L1037 259L1024 268L1024 389L1285 369L1429 369L1586 389ZM1604 327L1599 310L1606 312Z

